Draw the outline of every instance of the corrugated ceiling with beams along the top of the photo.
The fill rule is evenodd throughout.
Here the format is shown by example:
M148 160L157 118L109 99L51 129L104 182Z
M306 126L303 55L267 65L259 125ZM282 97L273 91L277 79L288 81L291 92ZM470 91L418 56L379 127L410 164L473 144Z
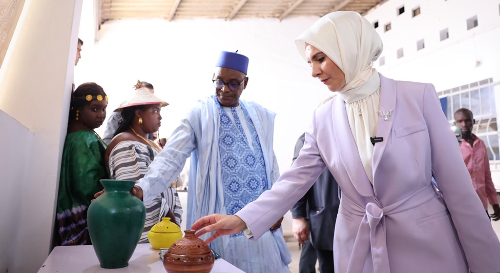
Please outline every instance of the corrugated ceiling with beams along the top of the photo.
M384 0L101 0L101 21L122 18L322 16L336 10L361 14Z

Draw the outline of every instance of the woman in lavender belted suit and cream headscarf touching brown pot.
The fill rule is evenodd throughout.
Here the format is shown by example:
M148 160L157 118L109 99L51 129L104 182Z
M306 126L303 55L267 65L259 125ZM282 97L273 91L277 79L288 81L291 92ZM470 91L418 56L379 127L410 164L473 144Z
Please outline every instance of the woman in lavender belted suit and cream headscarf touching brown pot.
M323 16L296 44L312 76L338 95L316 109L272 189L235 216L201 218L198 235L243 230L256 240L328 168L342 192L336 273L499 273L500 243L432 84L377 73L382 42L356 12Z

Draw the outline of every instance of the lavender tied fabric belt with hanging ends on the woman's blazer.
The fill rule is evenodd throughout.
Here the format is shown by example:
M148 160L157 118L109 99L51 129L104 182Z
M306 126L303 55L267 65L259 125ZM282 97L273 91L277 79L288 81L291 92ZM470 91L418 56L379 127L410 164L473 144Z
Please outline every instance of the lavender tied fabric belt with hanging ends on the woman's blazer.
M344 198L345 196L342 196ZM362 216L352 248L352 256L347 273L362 273L368 251L371 252L374 273L390 273L387 246L385 242L384 217L418 207L435 197L431 184L421 188L412 195L382 208L378 200L368 202L365 208L344 198L344 209L353 215Z

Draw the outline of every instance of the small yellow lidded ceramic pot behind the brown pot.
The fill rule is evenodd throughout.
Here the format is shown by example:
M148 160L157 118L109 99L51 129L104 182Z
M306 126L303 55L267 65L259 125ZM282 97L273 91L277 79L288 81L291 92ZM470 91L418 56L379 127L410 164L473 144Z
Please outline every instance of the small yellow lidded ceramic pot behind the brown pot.
M147 232L147 239L153 249L167 249L182 237L179 226L170 222L170 218L161 218L161 222L152 226Z

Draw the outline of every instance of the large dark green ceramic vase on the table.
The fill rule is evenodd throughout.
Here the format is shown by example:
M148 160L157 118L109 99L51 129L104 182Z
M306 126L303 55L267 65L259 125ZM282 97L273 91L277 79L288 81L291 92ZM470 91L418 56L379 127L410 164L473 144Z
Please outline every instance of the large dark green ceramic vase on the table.
M88 207L88 233L101 268L124 268L139 242L146 209L130 193L135 181L101 180L100 183L104 193Z

